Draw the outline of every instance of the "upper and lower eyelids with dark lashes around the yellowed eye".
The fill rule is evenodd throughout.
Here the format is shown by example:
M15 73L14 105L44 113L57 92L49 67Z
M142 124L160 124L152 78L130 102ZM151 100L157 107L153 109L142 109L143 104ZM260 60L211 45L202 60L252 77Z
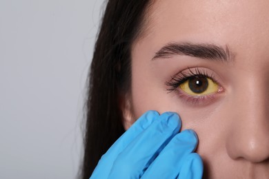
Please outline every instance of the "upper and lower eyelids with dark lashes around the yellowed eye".
M181 90L179 89L179 86L181 84L185 83L186 81L188 81L188 79L194 76L210 78L214 83L217 83L217 85L219 85L219 82L216 80L213 74L208 74L206 70L199 69L198 67L195 67L194 70L195 72L193 72L193 70L191 70L190 67L188 67L187 72L178 72L177 74L171 77L170 81L166 81L166 86L168 86L167 88L168 93L177 92L179 94L179 97L185 99L186 102L190 103L191 105L202 105L202 104L206 105L214 101L215 94L208 94L204 96L190 96L184 92L181 92ZM219 85L219 87L220 89L218 93L223 91L221 85Z

